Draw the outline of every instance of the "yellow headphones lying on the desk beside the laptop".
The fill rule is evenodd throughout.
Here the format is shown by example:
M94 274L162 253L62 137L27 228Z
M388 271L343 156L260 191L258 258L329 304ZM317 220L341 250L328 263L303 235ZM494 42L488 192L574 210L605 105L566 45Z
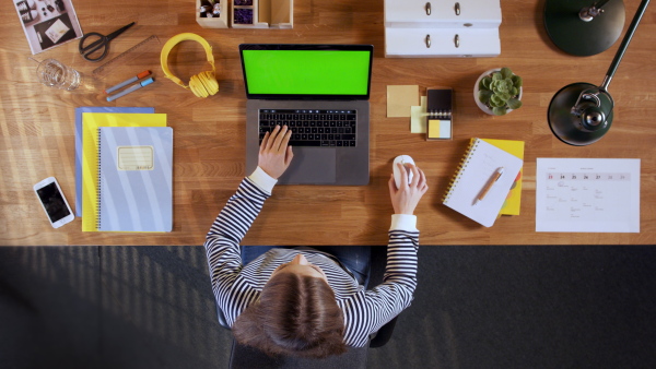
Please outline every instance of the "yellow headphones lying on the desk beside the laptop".
M202 47L206 49L206 52L208 55L208 62L210 63L210 66L212 66L211 71L202 72L202 73L191 76L188 86L185 85L183 83L183 81L180 81L180 79L173 75L173 73L171 73L171 71L168 70L168 52L171 52L171 50L177 44L185 41L185 40L192 40L192 41L200 43L200 45L202 45ZM194 95L196 95L198 97L208 97L208 96L214 95L215 93L219 92L219 82L216 81L216 76L214 75L215 68L214 68L214 56L212 55L212 47L204 38L198 36L197 34L184 33L184 34L179 34L179 35L171 37L171 39L167 40L166 44L164 44L164 47L162 48L162 55L160 56L160 61L162 62L162 70L164 71L164 74L166 75L166 78L187 90L191 90Z

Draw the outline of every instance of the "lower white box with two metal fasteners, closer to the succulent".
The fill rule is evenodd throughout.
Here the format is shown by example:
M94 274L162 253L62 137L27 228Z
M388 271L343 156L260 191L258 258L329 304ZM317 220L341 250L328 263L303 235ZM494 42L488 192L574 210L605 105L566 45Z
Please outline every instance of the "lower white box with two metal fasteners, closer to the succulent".
M500 53L499 28L385 28L388 58L483 58Z

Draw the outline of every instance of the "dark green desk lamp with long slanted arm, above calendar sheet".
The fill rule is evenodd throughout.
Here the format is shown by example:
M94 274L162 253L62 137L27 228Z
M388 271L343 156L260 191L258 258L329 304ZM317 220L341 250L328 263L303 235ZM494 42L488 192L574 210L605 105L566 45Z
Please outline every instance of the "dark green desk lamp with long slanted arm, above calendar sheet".
M572 83L561 88L551 99L547 112L549 127L562 142L575 146L589 145L610 129L614 103L608 93L608 85L648 4L649 0L642 0L640 3L600 86L585 82Z

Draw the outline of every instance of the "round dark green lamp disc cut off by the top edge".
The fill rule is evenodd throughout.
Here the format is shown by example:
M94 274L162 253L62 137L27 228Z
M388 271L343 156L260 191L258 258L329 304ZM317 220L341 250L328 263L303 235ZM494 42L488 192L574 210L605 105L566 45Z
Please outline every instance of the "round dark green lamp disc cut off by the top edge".
M544 3L544 27L549 37L561 50L588 57L606 51L614 44L624 27L624 2L610 0L604 12L589 22L578 13L591 7L595 0L547 0Z

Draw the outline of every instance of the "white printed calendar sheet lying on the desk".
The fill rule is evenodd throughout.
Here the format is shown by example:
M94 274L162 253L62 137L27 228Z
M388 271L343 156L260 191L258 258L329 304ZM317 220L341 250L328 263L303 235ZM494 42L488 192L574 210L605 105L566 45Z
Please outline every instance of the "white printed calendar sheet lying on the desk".
M538 158L536 231L640 233L640 159Z

